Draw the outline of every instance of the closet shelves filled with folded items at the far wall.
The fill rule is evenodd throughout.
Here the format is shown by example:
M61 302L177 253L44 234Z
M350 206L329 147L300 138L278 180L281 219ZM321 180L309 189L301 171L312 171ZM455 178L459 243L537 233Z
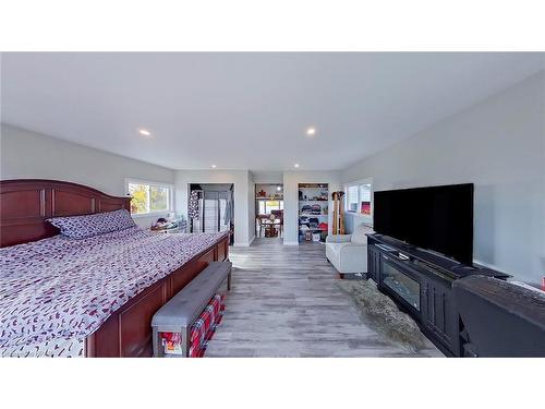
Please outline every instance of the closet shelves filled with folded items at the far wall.
M299 241L325 241L328 230L328 216L329 185L327 183L299 183ZM317 236L315 234L317 233L319 233L319 240L316 240Z

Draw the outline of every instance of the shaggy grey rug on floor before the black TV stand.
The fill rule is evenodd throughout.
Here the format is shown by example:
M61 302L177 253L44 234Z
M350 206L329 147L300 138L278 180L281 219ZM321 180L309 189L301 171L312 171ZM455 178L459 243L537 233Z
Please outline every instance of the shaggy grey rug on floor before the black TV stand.
M363 322L388 340L414 352L435 347L421 333L411 316L401 312L396 303L378 291L372 280L337 280L337 285L354 301Z

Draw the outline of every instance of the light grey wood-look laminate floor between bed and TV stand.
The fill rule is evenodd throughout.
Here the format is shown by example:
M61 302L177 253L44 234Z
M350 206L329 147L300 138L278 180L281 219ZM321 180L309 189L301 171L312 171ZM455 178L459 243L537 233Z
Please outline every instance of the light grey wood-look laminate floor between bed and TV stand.
M366 326L319 243L256 239L231 248L233 287L206 357L437 357L414 353Z

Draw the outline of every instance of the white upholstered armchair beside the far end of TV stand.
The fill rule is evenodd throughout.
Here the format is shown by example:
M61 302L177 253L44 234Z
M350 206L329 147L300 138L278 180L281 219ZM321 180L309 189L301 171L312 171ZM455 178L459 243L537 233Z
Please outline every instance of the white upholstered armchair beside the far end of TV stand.
M330 234L326 239L326 257L344 274L367 273L367 237L373 229L365 225L354 228L352 234Z

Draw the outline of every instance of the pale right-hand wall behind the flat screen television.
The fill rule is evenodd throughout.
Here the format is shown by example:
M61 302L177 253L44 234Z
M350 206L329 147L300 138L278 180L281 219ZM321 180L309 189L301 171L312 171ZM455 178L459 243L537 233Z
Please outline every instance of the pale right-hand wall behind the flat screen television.
M375 191L475 184L474 258L532 284L545 276L545 73L342 173Z

